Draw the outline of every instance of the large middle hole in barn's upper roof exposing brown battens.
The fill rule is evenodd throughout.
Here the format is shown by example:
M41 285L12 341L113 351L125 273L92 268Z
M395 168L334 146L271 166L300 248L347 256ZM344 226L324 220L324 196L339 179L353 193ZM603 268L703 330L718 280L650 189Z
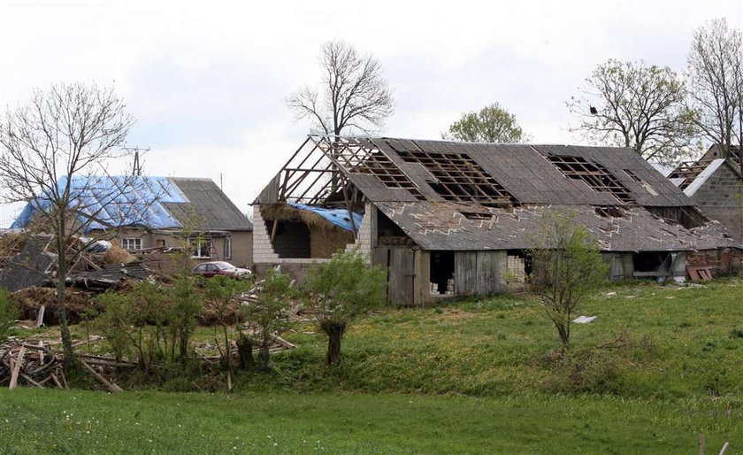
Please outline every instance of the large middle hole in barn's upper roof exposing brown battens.
M408 163L424 166L436 179L428 181L428 184L448 201L497 206L518 202L516 197L465 153L410 150L397 153Z

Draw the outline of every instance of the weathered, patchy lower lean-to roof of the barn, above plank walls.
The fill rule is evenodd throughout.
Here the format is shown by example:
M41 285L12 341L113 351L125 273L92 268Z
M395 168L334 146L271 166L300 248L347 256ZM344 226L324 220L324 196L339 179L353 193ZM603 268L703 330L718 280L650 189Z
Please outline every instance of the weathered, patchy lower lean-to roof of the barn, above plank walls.
M725 235L719 223L686 229L655 217L641 207L625 208L624 216L604 218L594 207L576 205L524 206L514 209L480 207L493 214L491 220L470 220L467 204L375 203L405 234L425 250L519 250L533 246L545 210L575 213L576 223L586 226L603 251L694 251L739 247Z

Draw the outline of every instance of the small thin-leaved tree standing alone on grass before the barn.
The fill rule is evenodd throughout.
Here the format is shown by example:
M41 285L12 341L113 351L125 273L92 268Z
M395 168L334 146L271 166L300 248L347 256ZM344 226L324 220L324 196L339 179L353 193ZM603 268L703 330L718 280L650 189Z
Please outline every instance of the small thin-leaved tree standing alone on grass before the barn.
M574 213L544 212L532 236L532 281L540 286L545 315L567 347L571 320L586 293L606 280L609 266L586 227L575 223Z

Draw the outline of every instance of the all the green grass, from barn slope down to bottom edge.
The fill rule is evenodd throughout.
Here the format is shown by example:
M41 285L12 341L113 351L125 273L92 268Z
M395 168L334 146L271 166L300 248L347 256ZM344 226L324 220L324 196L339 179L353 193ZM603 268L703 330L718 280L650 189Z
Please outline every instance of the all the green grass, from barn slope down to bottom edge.
M2 390L0 452L696 453L701 433L743 449L743 281L610 286L581 314L598 319L567 357L532 299L495 297L369 314L333 369L300 324L284 334L300 348L232 395L154 390L213 377Z

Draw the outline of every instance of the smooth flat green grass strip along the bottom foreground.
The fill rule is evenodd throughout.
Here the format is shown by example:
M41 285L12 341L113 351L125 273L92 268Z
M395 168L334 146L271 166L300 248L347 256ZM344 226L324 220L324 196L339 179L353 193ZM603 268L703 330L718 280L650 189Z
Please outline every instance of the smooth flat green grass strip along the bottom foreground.
M0 391L2 453L737 453L741 422L709 399Z

